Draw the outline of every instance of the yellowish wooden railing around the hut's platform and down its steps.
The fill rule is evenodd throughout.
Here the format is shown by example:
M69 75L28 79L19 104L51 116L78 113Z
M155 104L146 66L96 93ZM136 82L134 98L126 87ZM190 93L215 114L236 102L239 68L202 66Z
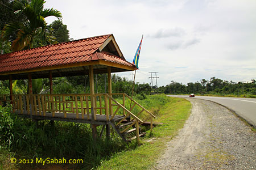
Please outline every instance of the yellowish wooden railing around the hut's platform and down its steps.
M95 100L95 106L92 108L92 99ZM89 120L90 114L105 114L106 120L112 120L116 115L124 116L118 121L116 126L120 125L127 117L133 121L130 126L122 130L121 133L134 125L141 125L150 120L152 131L152 118L154 114L147 111L142 105L131 99L126 94L65 94L65 95L0 95L0 105L11 103L13 111L19 114L31 114L46 116L46 113L63 113L64 118L67 113L76 114L76 118ZM135 110L135 111L134 111Z

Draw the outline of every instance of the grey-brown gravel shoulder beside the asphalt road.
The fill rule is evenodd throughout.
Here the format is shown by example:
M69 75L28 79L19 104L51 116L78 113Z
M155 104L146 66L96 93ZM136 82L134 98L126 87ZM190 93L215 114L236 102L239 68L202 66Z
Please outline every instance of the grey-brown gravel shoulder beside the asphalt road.
M191 116L154 169L256 169L256 133L225 107L188 99Z

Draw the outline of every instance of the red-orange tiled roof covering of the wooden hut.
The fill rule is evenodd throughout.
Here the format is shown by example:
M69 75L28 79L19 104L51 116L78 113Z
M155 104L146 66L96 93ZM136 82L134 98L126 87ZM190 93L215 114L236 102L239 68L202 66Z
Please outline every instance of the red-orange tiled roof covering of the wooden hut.
M40 67L97 61L99 59L134 67L133 64L121 57L103 51L99 52L98 48L100 48L110 36L112 35L96 36L2 54L0 55L0 74Z

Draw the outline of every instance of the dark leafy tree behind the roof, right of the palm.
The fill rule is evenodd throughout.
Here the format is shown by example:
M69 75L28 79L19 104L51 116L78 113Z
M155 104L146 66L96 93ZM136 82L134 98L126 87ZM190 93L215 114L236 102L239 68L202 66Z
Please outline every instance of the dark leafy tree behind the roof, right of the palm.
M67 42L70 40L67 25L64 25L61 20L53 21L50 27L53 29L53 36L56 38L56 41Z

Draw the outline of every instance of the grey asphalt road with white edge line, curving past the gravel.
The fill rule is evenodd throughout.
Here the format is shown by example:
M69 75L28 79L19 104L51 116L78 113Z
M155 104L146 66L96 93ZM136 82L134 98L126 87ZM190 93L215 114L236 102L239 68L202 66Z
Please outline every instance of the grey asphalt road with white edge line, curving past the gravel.
M188 97L168 95L171 97ZM239 116L245 119L249 124L256 128L256 99L237 98L237 97L212 97L212 96L196 96L196 99L204 99L214 101L225 107L235 111Z

